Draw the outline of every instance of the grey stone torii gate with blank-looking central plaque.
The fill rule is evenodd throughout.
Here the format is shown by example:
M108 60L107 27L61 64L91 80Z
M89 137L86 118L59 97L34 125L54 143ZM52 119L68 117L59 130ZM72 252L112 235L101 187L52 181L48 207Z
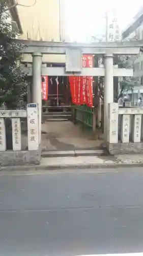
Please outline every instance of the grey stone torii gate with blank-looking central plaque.
M113 102L113 77L133 76L132 69L118 69L113 67L113 56L136 55L143 40L124 42L98 42L91 44L77 44L69 42L47 42L18 40L24 44L23 54L32 54L33 67L25 69L28 75L33 75L32 101L39 104L39 124L41 124L41 75L49 76L105 76L104 78L104 134L107 135L108 103ZM66 67L42 67L43 54L65 54ZM104 57L104 68L82 68L81 56L93 54ZM41 138L41 128L39 129Z

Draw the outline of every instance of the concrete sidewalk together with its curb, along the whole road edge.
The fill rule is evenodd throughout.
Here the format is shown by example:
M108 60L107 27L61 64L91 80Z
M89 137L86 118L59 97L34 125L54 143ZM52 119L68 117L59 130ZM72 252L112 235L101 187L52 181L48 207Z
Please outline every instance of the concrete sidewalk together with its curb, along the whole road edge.
M41 158L40 165L1 166L2 171L44 171L60 169L109 169L118 167L143 166L143 155L118 156L69 156Z

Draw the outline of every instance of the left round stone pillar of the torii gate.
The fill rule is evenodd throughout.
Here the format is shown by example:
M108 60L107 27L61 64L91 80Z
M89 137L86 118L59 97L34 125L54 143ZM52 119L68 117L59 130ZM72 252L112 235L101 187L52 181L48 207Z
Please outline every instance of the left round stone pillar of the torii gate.
M42 54L33 54L33 84L32 103L38 104L39 114L39 144L41 143L41 122L42 122L42 87L41 87Z

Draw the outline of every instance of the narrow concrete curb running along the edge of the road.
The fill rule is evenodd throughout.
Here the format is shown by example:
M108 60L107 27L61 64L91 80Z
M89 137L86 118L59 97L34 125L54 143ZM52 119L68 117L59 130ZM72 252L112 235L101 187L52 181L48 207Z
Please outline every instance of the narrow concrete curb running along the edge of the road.
M1 166L0 172L4 171L44 171L44 170L61 170L61 169L112 169L112 168L120 168L120 167L143 167L143 162L140 163L113 163L113 164L65 164L65 165L27 165L27 166Z

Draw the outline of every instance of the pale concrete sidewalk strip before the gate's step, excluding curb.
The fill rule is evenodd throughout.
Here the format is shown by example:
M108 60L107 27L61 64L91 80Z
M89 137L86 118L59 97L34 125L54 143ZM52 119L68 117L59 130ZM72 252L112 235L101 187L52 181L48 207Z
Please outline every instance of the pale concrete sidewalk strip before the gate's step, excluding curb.
M61 168L115 168L118 166L143 166L143 155L78 156L42 158L41 167Z

